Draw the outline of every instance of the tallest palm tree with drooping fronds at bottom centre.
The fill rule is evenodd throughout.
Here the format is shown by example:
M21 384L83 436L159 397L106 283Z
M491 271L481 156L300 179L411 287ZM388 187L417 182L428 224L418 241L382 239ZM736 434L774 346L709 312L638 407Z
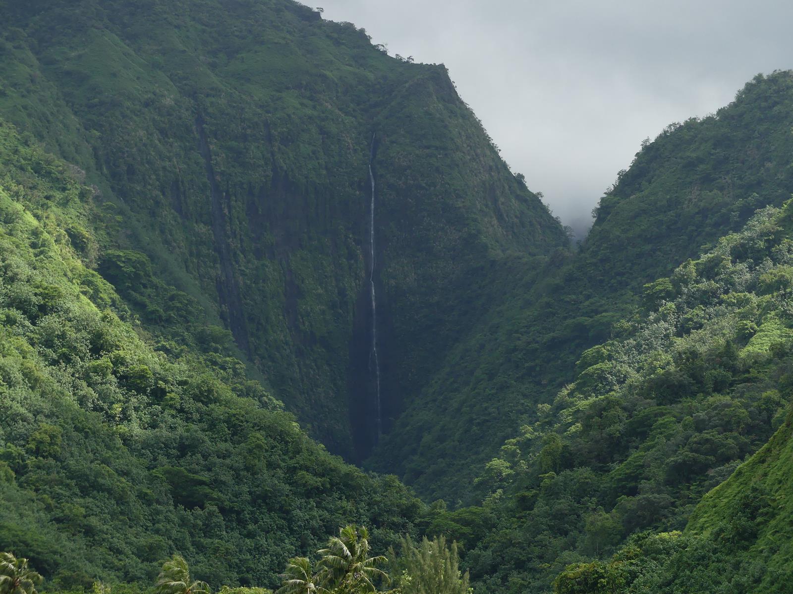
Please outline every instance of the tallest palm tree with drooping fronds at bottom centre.
M386 558L367 557L370 549L366 528L341 528L338 537L328 540L327 549L317 551L322 556L316 564L320 568L320 583L341 592L374 592L374 581L378 577L387 581L389 577L377 568Z

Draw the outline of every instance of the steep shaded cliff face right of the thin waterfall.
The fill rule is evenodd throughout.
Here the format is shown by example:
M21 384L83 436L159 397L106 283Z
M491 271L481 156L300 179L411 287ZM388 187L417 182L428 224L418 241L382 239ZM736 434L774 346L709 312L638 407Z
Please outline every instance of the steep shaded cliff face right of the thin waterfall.
M491 281L513 258L542 257L565 237L492 150L441 69L400 89L376 128L388 430L487 314L503 290Z

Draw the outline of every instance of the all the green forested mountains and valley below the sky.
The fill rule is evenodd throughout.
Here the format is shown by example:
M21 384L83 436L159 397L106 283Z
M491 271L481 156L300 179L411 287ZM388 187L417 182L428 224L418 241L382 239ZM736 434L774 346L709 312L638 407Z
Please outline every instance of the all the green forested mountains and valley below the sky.
M788 591L793 72L573 245L318 10L0 15L0 594Z

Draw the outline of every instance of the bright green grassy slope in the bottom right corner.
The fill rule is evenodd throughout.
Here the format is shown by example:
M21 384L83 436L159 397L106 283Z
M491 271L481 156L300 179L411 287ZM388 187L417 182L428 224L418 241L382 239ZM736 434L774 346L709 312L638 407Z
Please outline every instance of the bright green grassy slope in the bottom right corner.
M791 558L791 417L768 444L707 493L685 531L643 534L608 562L571 567L569 594L788 592Z

